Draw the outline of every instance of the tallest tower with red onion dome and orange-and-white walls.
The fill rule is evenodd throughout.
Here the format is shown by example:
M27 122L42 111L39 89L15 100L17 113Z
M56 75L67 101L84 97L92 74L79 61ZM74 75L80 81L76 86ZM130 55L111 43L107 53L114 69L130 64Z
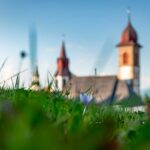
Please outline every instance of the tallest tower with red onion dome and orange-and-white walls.
M125 80L136 94L140 94L140 48L138 35L131 24L130 12L128 24L122 33L119 49L118 78Z

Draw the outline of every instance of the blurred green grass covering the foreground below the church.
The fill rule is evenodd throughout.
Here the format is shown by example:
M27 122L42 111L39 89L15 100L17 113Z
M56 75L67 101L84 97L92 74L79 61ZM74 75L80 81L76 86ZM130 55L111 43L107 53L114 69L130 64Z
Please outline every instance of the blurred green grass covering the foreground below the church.
M0 90L0 150L149 149L143 113L84 106L61 93Z

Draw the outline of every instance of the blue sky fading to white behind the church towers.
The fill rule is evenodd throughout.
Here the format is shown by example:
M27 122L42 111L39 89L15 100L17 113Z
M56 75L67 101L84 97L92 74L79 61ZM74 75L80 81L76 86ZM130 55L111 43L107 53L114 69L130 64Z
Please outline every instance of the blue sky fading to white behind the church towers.
M29 27L35 24L41 82L47 71L56 71L62 35L65 34L70 70L76 75L117 74L118 50L115 47L127 25L127 8L139 35L141 86L150 87L150 2L148 0L0 0L0 63L8 57L1 80L17 72L19 52L29 53ZM29 57L22 69L22 80L31 78Z

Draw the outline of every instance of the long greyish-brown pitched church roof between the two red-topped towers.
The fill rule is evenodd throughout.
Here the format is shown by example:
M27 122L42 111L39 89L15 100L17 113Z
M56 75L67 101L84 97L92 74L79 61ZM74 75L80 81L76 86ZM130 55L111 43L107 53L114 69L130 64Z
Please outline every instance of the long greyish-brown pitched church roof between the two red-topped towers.
M112 103L133 94L125 81L118 80L117 76L74 76L67 84L71 97L78 97L86 92L94 96L95 102Z

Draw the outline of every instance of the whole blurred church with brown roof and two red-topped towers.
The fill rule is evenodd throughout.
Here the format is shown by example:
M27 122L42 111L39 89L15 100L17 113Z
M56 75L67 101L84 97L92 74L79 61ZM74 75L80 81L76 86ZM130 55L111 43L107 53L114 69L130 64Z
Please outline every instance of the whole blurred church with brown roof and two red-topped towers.
M70 97L78 97L80 93L89 93L93 95L97 103L104 101L111 103L114 99L120 101L131 95L140 95L141 45L130 18L117 47L119 62L116 76L79 77L69 70L69 59L63 42L57 59L54 90L68 90Z

